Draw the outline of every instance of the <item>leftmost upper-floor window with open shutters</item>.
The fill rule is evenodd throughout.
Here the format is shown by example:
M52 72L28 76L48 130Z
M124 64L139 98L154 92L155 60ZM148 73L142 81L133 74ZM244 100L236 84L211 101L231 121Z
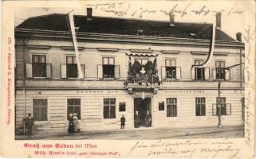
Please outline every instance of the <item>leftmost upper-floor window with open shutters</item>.
M32 55L32 76L46 77L46 56Z

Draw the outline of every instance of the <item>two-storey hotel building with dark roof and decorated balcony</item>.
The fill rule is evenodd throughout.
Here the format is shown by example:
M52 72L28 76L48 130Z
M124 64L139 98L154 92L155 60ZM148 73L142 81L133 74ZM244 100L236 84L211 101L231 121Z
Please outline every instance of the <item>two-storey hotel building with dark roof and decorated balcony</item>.
M209 67L211 25L75 16L81 69L64 14L30 17L15 28L15 126L31 113L37 129L67 130L77 113L81 130L134 129L134 115L152 128L242 125L244 44L220 28ZM217 18L220 18L217 16ZM239 34L238 34L239 37ZM241 34L240 34L241 37ZM222 69L223 68L223 69ZM218 98L218 82L221 98Z

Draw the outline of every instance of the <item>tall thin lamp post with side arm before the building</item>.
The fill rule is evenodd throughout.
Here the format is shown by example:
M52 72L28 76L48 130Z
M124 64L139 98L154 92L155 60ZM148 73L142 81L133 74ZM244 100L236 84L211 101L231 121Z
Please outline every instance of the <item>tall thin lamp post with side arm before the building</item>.
M219 83L218 83L218 94L219 94L219 97L218 97L218 103L217 103L218 104L218 108L219 108L219 110L218 110L218 116L219 116L218 127L222 126L222 118L221 118L222 109L221 109L221 100L220 100L220 84L222 82L222 80L220 78L220 76L221 76L221 74L220 74L221 69L224 69L224 75L223 76L225 77L226 73L229 72L231 68L234 68L234 67L242 65L242 64L244 64L244 63L234 64L234 65L226 67L226 68L220 68L220 66L218 67L218 70L219 70L219 72L218 72L218 80L219 80ZM242 75L240 75L240 76L242 76Z

